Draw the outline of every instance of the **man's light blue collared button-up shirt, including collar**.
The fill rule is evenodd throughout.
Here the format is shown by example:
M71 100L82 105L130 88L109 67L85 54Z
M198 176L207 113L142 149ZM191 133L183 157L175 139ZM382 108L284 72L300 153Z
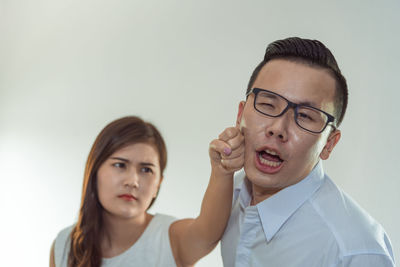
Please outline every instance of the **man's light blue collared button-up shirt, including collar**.
M242 170L221 241L225 267L395 266L382 226L324 174L321 162L299 183L255 206L250 201Z

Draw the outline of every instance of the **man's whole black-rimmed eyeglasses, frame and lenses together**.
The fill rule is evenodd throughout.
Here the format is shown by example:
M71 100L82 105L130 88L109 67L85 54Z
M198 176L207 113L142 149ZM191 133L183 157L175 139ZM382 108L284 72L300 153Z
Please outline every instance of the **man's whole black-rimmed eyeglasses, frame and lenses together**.
M280 117L289 108L294 109L294 120L298 126L312 133L321 133L329 124L333 125L335 117L323 110L304 104L293 103L283 96L260 88L253 88L247 94L254 93L254 108L269 117Z

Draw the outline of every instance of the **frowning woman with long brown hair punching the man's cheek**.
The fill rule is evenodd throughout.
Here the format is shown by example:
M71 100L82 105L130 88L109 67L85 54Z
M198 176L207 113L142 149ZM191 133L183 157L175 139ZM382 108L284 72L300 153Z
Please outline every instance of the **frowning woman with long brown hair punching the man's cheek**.
M233 173L243 166L243 136L228 128L209 152L212 172L199 216L152 215L147 210L167 163L164 140L138 117L108 124L88 156L78 221L58 234L50 266L192 266L224 232Z

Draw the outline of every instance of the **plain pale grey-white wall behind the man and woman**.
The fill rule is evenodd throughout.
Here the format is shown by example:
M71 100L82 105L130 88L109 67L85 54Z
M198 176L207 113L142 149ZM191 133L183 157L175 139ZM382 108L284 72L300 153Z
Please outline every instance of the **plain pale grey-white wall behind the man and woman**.
M90 146L121 116L167 141L152 211L196 216L209 142L234 124L266 45L288 36L323 41L347 77L325 169L382 223L399 261L399 13L396 0L0 0L2 266L48 264L77 218ZM197 266L222 266L219 248Z

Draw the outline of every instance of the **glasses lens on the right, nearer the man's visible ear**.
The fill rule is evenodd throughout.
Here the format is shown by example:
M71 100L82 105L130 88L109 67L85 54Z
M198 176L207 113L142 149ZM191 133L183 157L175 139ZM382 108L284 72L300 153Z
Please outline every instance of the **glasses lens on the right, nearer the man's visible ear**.
M306 130L320 132L328 122L328 116L311 107L298 107L296 122Z

